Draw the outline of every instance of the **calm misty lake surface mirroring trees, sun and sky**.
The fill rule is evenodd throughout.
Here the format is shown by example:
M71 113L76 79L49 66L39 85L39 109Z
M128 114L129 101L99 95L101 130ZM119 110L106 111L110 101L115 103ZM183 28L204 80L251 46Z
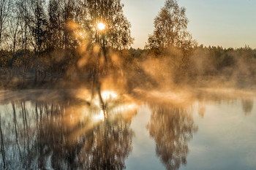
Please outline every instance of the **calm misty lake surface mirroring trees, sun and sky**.
M0 169L256 169L255 96L1 90Z

